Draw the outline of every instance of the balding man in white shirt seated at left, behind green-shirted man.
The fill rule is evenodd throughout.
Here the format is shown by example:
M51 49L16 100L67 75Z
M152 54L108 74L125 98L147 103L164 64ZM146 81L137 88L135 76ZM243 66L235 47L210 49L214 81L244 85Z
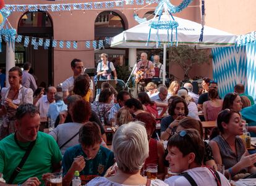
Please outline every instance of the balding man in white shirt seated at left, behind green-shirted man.
M50 86L47 89L45 89L46 95L43 95L40 97L40 99L34 103L34 105L38 108L40 111L40 131L43 131L43 129L48 128L48 122L47 122L47 113L49 109L49 104L55 102L55 94L57 90L54 86Z

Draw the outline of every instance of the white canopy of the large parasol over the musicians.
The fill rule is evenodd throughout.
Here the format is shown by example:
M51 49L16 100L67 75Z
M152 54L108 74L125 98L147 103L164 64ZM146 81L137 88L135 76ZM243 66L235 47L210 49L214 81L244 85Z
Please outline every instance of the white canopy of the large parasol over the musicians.
M161 15L161 20L169 21L173 20L168 14ZM179 17L174 17L174 20L179 23L177 27L177 40L178 44L187 44L191 46L198 46L200 48L211 48L218 46L234 46L237 36L225 31L221 31L210 26L204 26L203 29L203 41L199 42L202 25L197 22L192 22ZM148 24L152 20L141 23L129 30L114 36L111 39L111 47L124 47L124 48L155 48L156 47L156 30L151 29L150 41L146 46L148 40L148 32L150 26ZM176 43L176 31L169 30L169 39L167 30L158 31L161 44L168 44L171 41L171 35L173 35L173 44ZM161 45L160 47L163 47Z

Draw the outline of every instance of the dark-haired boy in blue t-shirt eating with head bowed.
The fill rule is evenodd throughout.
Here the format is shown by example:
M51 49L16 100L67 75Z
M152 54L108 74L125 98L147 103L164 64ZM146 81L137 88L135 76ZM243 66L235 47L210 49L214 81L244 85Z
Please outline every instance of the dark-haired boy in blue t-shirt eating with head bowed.
M114 164L114 154L100 146L101 133L96 123L87 122L79 130L79 145L70 147L64 153L63 186L70 185L74 172L79 171L82 185L98 176L104 176Z

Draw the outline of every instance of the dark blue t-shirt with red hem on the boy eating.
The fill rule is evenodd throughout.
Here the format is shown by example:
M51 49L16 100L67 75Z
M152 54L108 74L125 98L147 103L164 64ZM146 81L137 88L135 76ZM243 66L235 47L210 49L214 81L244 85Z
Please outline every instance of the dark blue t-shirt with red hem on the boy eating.
M70 147L66 150L62 159L63 176L65 176L69 171L74 158L80 155L85 158L87 157L87 155L85 155L83 152L81 145L75 145L74 147ZM85 160L85 168L80 172L82 185L86 184L95 177L104 176L105 172L113 164L114 153L108 148L100 146L100 150L93 160Z

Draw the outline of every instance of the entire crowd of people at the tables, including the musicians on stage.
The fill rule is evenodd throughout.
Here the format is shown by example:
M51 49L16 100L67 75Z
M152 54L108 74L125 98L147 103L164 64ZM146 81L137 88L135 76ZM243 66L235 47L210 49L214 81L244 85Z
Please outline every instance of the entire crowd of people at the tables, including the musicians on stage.
M82 185L107 186L220 186L255 177L256 153L239 137L245 123L256 136L254 99L244 85L223 99L209 78L203 78L200 95L189 82L157 86L150 78L163 75L160 57L154 62L144 52L140 57L137 97L108 82L94 96L79 59L70 63L70 78L45 89L28 74L30 63L23 71L11 68L10 86L1 91L0 174L6 183L0 185L47 185L52 172L61 172L62 185L70 185L75 171ZM113 79L111 73L117 80L113 63L101 54L98 79ZM201 121L216 121L210 139L204 138ZM116 130L111 146L109 127ZM151 164L155 177L148 172Z

